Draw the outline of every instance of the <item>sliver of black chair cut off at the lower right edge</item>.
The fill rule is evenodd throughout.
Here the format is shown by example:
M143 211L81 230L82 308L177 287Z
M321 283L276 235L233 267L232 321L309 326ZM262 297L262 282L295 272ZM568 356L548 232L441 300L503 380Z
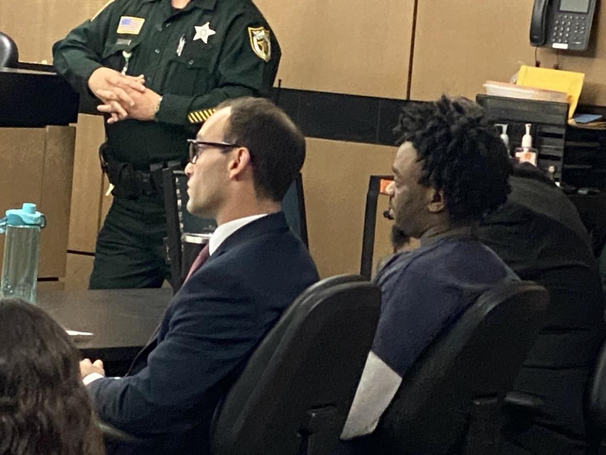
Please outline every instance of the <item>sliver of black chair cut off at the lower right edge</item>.
M586 409L589 453L606 455L606 342L587 385Z

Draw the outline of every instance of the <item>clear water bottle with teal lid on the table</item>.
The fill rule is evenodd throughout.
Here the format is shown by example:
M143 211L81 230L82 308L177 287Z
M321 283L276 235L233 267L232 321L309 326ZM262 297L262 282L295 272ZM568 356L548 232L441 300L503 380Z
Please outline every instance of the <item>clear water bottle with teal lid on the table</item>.
M6 212L0 219L4 239L4 260L0 298L22 298L36 303L40 230L46 218L36 211L36 204L25 203L21 209Z

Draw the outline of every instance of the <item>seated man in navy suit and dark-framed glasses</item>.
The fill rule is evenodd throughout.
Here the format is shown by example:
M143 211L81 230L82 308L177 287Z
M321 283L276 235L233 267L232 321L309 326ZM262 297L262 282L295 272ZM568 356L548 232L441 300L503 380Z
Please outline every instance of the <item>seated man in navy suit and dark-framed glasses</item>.
M304 159L301 132L260 98L222 104L190 141L187 209L218 227L127 376L81 363L99 417L151 440L113 453L208 450L219 400L284 309L318 280L280 206Z

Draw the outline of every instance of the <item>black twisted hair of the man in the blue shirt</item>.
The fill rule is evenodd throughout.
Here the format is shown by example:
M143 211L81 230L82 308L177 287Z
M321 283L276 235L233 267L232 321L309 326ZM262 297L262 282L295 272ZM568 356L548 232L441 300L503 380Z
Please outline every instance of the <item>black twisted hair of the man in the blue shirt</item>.
M397 146L410 141L415 147L422 163L419 183L444 191L451 223L479 220L507 199L507 149L478 104L445 95L432 103L411 102L393 131Z

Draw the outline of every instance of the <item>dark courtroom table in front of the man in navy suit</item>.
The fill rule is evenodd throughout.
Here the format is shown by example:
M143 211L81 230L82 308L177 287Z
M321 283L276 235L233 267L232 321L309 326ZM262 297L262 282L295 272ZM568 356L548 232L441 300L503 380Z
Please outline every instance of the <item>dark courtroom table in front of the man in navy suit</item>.
M82 357L103 360L105 372L119 376L147 344L172 295L170 288L39 291L38 306L66 329L92 332L73 337Z

